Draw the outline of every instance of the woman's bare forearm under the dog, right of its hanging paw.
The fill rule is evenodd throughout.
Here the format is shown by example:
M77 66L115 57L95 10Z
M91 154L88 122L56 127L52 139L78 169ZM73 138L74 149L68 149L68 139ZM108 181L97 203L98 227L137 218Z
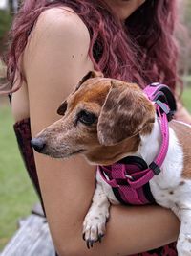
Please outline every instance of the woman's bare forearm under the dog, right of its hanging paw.
M120 255L130 255L158 248L176 241L180 230L177 217L167 209L156 206L115 206L111 209L111 222L108 223L108 240ZM106 238L107 239L107 238ZM107 243L107 242L106 242ZM116 246L115 246L116 245ZM126 254L125 254L126 253Z

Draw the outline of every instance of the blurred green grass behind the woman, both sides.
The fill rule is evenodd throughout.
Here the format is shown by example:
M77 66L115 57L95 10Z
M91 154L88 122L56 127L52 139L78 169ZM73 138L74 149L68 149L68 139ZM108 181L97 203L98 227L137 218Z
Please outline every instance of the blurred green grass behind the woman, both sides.
M191 87L183 102L191 112ZM9 105L0 105L0 250L17 229L17 221L30 214L37 197L21 160L12 129Z

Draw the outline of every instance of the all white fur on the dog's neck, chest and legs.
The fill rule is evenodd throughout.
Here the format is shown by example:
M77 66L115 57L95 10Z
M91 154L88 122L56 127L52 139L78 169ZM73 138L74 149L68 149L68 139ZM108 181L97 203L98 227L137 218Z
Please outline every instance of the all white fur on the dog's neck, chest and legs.
M176 121L173 121L176 122ZM161 135L159 120L151 134L141 136L141 143L134 155L141 156L150 164L158 155ZM179 256L191 255L191 180L182 178L183 151L172 128L169 128L169 148L161 166L161 173L150 181L153 197L159 205L170 208L180 219L181 228L178 240ZM112 188L96 174L96 191L93 203L83 223L86 241L97 239L97 234L104 234L105 223L109 217L110 203L118 204ZM183 183L182 183L183 181Z

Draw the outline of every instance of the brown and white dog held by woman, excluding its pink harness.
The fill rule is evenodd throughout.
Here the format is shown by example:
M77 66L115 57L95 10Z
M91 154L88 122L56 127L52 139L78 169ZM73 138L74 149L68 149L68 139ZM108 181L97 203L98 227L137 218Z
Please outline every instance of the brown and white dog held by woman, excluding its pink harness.
M152 102L136 84L89 72L58 108L63 117L32 139L32 147L55 158L82 153L95 165L110 165L128 155L151 163L161 134ZM169 148L161 173L150 181L153 197L180 219L179 256L191 255L191 126L171 121ZM151 147L152 145L152 147ZM95 243L105 233L112 188L97 172L96 191L85 217L83 234ZM92 245L91 244L91 245Z

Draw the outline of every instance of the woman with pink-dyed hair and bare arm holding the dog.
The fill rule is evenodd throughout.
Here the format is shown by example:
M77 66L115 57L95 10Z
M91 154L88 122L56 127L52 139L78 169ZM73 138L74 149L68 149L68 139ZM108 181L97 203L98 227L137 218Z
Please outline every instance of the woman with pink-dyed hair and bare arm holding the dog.
M58 162L34 153L39 190L30 148L31 131L33 136L57 120L58 105L94 68L141 87L163 81L175 91L175 20L175 1L168 0L26 0L14 21L8 58L11 91L16 91L14 128L41 190L59 256L131 255L178 238L180 223L171 211L112 206L103 242L88 250L81 232L95 190L95 168L80 156ZM177 255L170 246L168 252L159 248L137 255Z

